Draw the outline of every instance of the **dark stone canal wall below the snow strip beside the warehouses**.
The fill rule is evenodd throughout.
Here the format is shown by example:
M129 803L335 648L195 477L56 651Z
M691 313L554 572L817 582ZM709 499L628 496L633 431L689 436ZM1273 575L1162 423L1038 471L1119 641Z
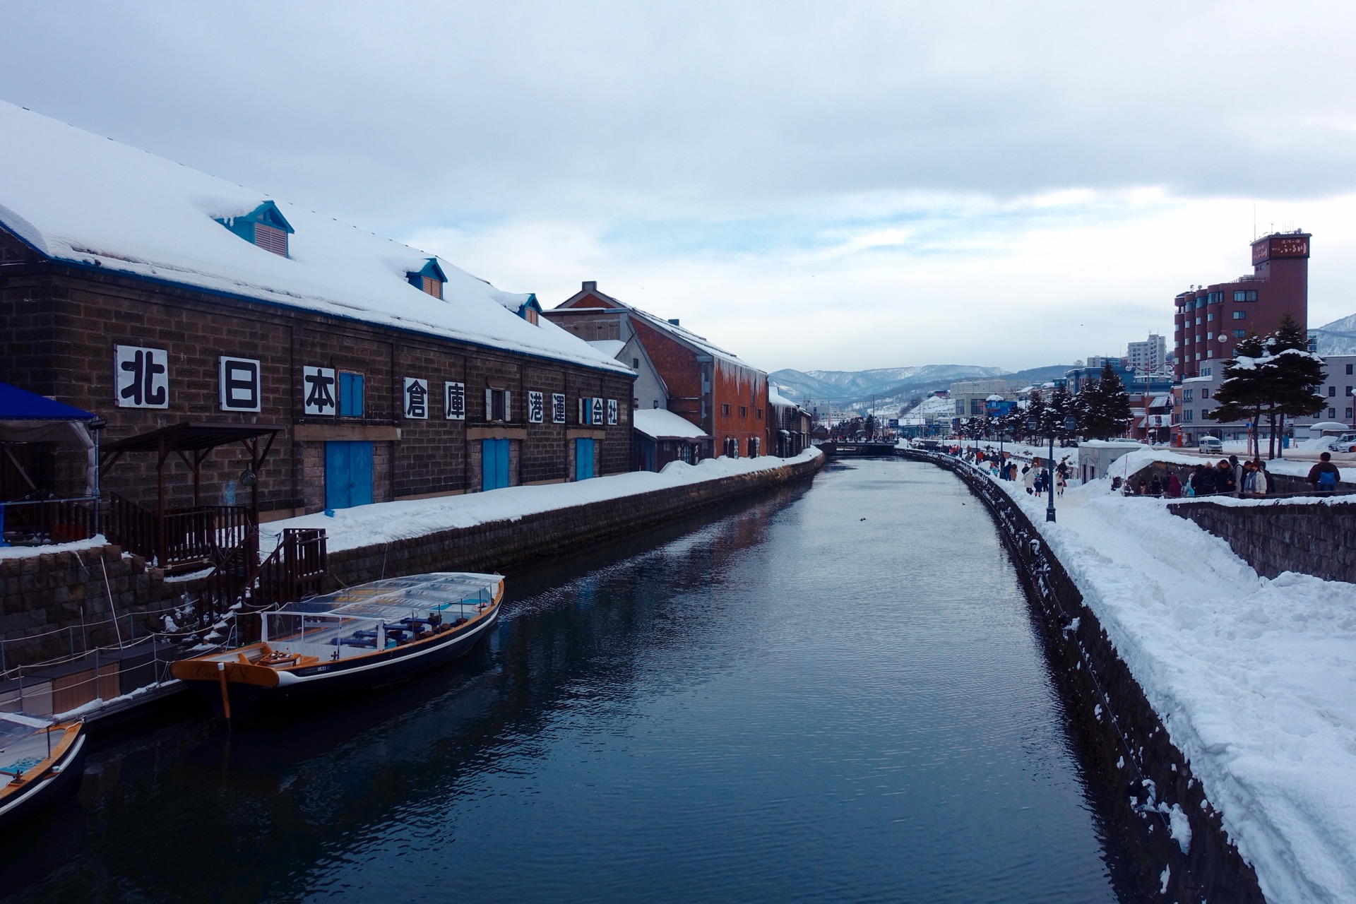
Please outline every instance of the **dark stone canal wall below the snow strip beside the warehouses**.
M488 522L332 552L330 590L430 571L503 572L529 561L595 548L607 539L810 477L823 464L824 455L816 455L810 461L789 462L749 474L556 508L517 520Z

